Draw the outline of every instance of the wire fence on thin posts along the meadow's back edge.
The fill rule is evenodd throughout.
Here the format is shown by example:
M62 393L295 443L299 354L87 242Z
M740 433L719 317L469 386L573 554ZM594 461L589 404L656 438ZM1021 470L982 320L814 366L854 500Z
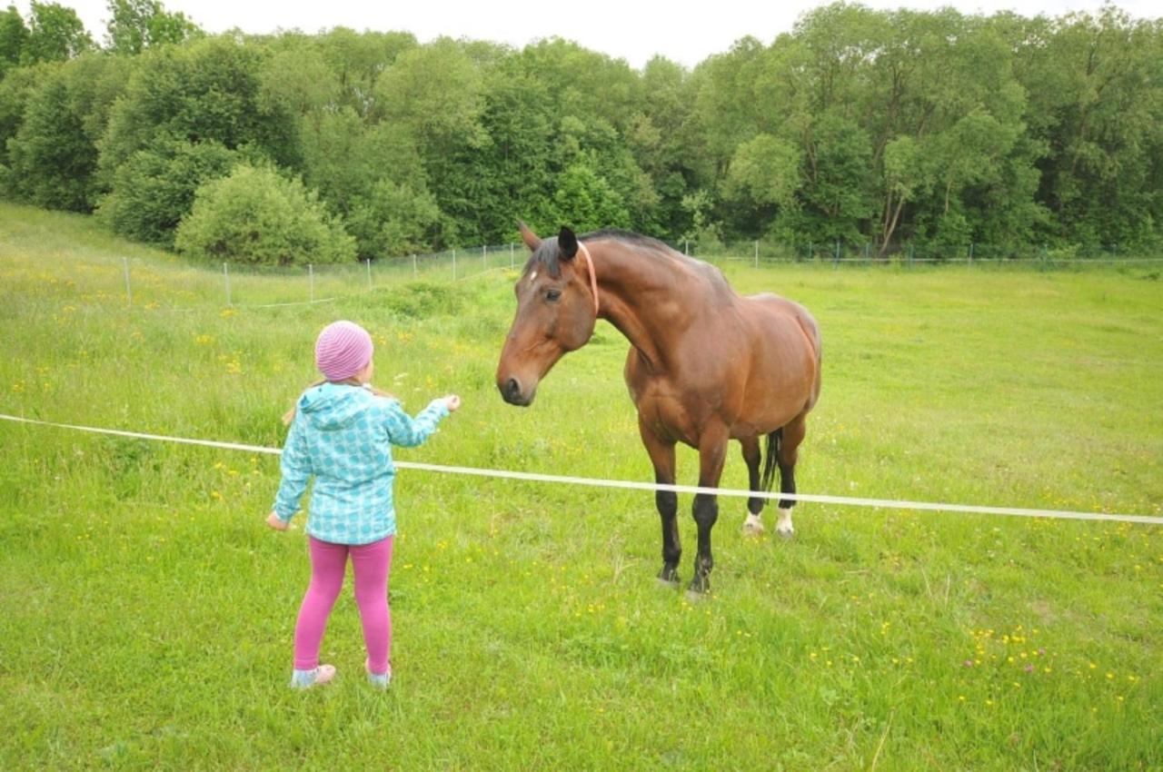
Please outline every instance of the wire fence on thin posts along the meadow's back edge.
M698 243L671 242L676 251L722 266L748 265L763 269L800 264L840 269L842 266L896 266L908 269L925 265L1014 266L1034 270L1062 270L1083 266L1158 265L1161 257L1127 253L1118 245L1054 249L1049 246L965 246L890 244L835 241L830 244L772 244L768 242ZM456 283L499 271L514 271L525 265L528 250L523 244L481 245L449 249L427 255L368 259L359 263L330 265L256 266L194 264L180 259L101 258L86 256L57 266L37 264L28 273L65 285L76 285L84 276L83 300L102 303L197 310L206 308L207 298L219 298L212 307L276 308L333 302L361 293L412 283ZM55 271L53 271L55 269Z

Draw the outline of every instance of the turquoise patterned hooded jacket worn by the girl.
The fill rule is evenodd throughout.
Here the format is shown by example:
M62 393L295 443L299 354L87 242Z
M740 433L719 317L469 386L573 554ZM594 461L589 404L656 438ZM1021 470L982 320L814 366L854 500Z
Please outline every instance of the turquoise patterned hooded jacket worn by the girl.
M392 445L419 445L447 415L442 399L412 419L394 399L358 386L323 384L307 389L283 446L276 514L290 521L314 477L308 534L335 544L369 544L391 536L395 532Z

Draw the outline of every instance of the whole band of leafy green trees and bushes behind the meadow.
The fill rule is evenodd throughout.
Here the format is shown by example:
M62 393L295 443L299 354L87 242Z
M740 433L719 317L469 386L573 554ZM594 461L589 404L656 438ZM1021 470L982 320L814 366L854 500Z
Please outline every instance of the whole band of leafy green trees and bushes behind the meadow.
M207 35L157 0L0 14L0 195L214 259L554 231L870 244L1163 241L1163 21L837 2L641 70L565 40Z

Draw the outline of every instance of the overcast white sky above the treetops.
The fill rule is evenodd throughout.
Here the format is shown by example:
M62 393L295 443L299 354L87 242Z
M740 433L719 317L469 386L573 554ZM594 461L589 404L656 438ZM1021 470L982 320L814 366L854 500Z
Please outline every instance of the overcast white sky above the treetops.
M56 1L74 8L94 40L105 40L109 16L107 0ZM508 43L515 48L557 36L626 59L634 67L641 67L656 53L693 67L709 55L726 51L745 35L770 43L780 33L789 31L805 10L825 3L702 0L683 9L684 5L682 0L163 0L167 10L180 10L211 33L231 28L247 33L271 33L280 28L315 33L350 27L409 31L421 42L444 35ZM914 9L951 5L963 13L992 14L1008 9L1026 16L1057 16L1071 10L1096 10L1103 3L1099 0L866 0L863 5ZM1133 16L1163 15L1157 0L1122 0L1115 5ZM16 8L28 17L29 0L17 0Z

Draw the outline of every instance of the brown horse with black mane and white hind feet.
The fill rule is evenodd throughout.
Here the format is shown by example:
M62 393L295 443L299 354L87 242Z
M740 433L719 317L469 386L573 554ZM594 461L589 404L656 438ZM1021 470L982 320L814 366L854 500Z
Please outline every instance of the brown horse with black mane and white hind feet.
M795 493L795 458L805 420L820 395L820 331L802 307L772 294L742 298L722 272L665 244L604 230L578 241L568 228L540 240L523 223L533 251L514 287L516 317L497 367L511 405L533 402L537 384L568 351L579 349L605 319L630 342L626 384L655 480L675 484L675 443L699 451L699 486L718 487L727 442L743 446L749 489ZM580 258L578 255L580 253ZM761 476L759 438L768 437ZM677 585L682 548L673 492L655 494L662 516L663 567ZM764 499L748 499L744 532L763 530ZM793 500L780 500L777 531L792 535ZM699 551L691 591L711 588L714 495L694 496Z

